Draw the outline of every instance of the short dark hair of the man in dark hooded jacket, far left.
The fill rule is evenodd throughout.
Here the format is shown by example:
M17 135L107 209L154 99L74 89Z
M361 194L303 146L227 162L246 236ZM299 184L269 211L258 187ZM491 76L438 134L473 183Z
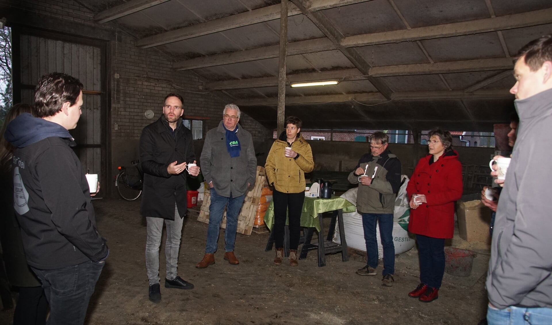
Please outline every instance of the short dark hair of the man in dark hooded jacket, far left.
M44 74L35 88L36 117L54 116L66 102L71 106L75 105L82 88L82 83L68 74L60 72Z

